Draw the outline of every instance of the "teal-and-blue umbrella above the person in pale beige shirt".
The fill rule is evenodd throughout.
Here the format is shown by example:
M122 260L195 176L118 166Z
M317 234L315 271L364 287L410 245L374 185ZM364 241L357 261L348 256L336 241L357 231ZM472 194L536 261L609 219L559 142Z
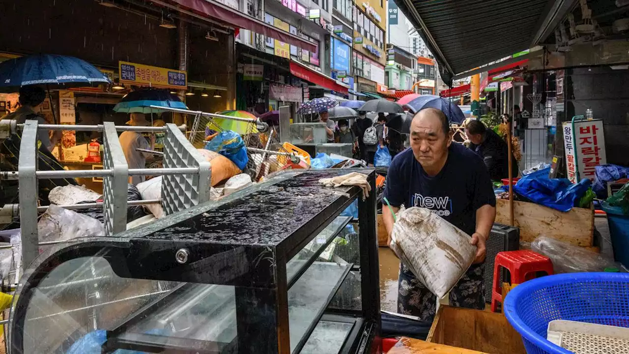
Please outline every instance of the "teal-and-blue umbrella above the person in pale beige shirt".
M166 108L180 108L187 110L185 103L179 100L177 95L165 91L163 89L143 89L133 91L127 94L114 107L114 111L122 113L160 113L159 108L151 108L151 106L160 106Z

